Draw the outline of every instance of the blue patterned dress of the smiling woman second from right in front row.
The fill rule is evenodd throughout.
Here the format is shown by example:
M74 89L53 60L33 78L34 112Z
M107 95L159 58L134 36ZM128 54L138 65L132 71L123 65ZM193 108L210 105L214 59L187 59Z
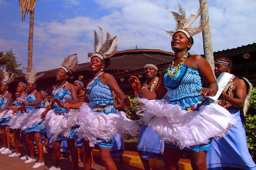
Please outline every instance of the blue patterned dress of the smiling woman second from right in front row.
M116 107L114 106L113 90L108 87L107 84L100 81L100 77L94 81L90 90L87 89L87 93L87 97L90 100L90 105L108 105L104 109L99 109L99 113L105 113L106 115L108 115L109 113L116 113ZM114 137L111 137L109 141L103 139L98 140L102 141L97 144L100 148L111 149L114 144Z

